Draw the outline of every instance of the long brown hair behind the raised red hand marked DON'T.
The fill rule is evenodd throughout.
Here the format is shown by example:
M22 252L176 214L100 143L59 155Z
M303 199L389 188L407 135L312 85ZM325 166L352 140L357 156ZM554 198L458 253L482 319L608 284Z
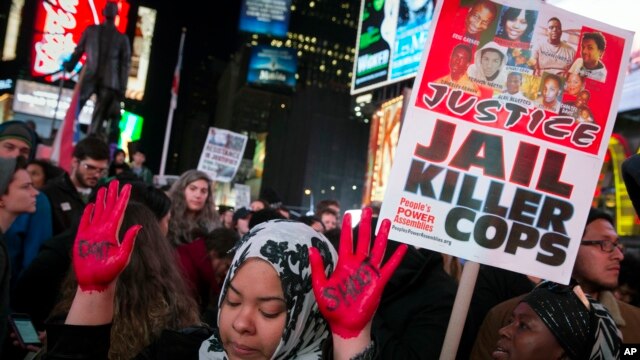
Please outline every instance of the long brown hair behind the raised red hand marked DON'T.
M180 330L200 322L198 306L189 296L180 265L149 209L130 201L120 239L134 224L142 225L129 265L116 284L109 358L130 359L158 340L166 329ZM76 293L73 270L62 285L62 300L52 316L69 311Z

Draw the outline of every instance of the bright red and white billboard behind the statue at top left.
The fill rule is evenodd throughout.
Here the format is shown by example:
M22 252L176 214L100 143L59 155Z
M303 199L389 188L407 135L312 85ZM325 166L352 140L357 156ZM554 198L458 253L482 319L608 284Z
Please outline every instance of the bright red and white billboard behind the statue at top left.
M104 21L102 9L106 3L107 0L38 1L31 43L31 75L47 82L62 77L62 63L71 57L84 29ZM125 0L117 4L116 27L125 33L130 6ZM84 57L80 62L84 64Z

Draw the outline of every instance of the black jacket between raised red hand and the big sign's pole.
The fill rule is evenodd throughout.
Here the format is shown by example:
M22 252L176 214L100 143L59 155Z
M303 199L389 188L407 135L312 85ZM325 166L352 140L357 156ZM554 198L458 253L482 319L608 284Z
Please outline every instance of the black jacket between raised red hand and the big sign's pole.
M399 243L389 241L390 256ZM442 256L409 247L387 284L371 329L380 359L437 359L456 295Z

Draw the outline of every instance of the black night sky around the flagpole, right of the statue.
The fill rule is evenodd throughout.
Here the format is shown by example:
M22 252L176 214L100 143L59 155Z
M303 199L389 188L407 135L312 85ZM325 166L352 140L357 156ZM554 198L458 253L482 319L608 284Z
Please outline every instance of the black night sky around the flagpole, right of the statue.
M143 114L145 117L141 146L147 152L148 165L154 170L159 169L161 160L181 29L186 27L187 34L172 137L184 135L176 133L176 126L179 128L180 122L188 121L189 97L195 90L194 78L206 71L203 66L206 67L214 59L228 61L240 45L237 30L240 0L206 4L196 1L186 3L191 5L185 6L185 1L139 3L141 6L157 9L158 15L145 99L141 103L131 102L127 105L132 112ZM214 11L210 10L211 7ZM211 84L211 89L216 89L216 84ZM167 173L170 173L169 161L167 170Z

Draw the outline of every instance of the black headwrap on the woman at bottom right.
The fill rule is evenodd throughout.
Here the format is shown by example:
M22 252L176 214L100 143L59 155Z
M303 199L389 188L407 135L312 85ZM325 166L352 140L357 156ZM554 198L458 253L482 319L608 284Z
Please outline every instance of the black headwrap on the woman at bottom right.
M620 332L607 309L579 286L545 281L523 300L571 359L617 359Z

